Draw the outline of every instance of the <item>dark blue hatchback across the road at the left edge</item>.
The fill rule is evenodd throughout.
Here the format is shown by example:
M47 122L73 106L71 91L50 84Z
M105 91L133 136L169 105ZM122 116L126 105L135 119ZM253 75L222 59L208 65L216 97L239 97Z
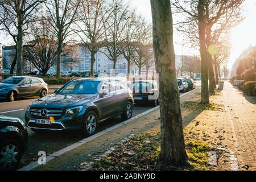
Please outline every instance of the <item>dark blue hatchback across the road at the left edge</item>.
M0 98L15 101L19 97L47 95L48 88L42 78L13 76L0 82Z

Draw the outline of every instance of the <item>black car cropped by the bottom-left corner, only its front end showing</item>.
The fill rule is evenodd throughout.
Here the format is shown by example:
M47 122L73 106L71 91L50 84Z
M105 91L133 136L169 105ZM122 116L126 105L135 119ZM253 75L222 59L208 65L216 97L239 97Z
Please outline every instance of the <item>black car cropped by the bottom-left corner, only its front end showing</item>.
M27 129L19 118L0 115L0 170L15 170L27 150Z

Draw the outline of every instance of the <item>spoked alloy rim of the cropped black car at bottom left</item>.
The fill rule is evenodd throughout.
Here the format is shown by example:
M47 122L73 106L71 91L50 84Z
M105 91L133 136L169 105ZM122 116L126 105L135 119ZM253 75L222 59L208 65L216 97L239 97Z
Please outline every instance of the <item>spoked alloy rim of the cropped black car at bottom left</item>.
M19 151L16 146L9 144L0 152L0 169L13 169L18 162Z

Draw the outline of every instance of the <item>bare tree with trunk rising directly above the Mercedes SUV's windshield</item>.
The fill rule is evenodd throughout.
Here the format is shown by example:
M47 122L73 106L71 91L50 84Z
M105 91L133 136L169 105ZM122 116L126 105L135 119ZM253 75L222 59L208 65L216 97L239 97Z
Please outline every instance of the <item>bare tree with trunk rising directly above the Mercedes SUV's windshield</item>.
M82 0L78 9L79 21L76 22L76 34L90 51L90 75L93 76L93 65L98 49L102 47L103 26L108 20L108 9L105 0Z

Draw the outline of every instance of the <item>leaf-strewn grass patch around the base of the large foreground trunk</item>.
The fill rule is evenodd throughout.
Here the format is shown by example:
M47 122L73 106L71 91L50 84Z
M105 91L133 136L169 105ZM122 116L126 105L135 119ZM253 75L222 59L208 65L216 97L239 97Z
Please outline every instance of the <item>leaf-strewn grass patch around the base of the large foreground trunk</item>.
M185 144L189 162L194 168L184 170L207 170L208 152L213 149L207 143L197 140L189 140ZM156 167L159 154L159 134L137 134L126 142L118 144L109 155L94 158L89 162L90 168L87 168L87 170L159 170ZM83 169L82 166L81 169ZM167 169L175 168L168 166Z

